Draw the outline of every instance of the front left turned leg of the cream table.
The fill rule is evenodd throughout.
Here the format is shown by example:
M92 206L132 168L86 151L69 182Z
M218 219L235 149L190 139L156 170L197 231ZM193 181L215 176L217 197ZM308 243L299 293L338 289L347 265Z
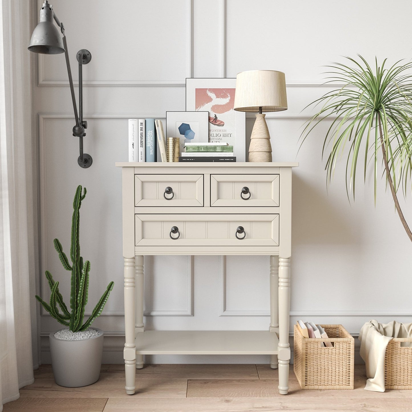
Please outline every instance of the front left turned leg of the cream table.
M133 395L136 390L136 342L135 342L135 258L124 258L124 369L126 372L126 393Z

